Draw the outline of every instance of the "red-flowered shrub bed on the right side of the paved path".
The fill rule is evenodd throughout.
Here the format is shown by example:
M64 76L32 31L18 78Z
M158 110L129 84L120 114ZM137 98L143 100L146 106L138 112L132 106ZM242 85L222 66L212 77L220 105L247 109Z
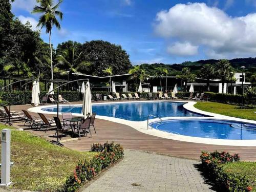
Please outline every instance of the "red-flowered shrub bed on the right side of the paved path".
M225 172L222 164L235 163L240 160L238 154L230 155L226 152L202 152L200 159L202 161L203 171L206 176L214 182L221 191L251 191L249 181L245 176Z

